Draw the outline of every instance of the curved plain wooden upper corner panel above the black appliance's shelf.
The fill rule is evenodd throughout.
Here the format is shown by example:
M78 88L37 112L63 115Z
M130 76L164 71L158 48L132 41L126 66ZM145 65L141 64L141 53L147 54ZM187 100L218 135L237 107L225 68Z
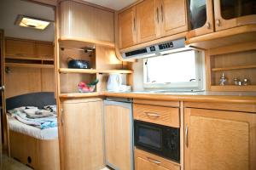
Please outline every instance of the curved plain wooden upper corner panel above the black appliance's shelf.
M84 42L114 42L113 12L73 1L60 5L60 37Z

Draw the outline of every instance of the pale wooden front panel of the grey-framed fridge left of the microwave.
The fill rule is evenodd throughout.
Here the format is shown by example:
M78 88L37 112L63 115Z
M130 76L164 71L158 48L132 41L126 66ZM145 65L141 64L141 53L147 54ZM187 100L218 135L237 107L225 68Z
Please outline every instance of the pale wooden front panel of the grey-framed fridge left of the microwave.
M131 170L131 108L104 105L105 155L107 163L117 169Z

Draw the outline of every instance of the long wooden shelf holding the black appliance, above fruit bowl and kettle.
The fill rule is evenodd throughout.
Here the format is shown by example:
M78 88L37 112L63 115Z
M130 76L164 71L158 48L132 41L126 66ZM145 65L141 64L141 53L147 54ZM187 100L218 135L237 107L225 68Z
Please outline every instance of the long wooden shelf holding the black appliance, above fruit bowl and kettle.
M129 70L98 70L98 69L68 69L60 68L60 73L85 73L85 74L96 74L96 73L119 73L119 74L131 74L133 71Z

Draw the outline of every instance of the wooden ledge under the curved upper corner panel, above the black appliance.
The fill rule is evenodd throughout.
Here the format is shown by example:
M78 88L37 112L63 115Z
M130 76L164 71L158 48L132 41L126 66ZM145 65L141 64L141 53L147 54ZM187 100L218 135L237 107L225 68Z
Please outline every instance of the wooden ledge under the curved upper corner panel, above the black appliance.
M102 42L79 37L61 37L59 38L60 47L75 47L75 48L93 48L96 44L114 48L114 42Z

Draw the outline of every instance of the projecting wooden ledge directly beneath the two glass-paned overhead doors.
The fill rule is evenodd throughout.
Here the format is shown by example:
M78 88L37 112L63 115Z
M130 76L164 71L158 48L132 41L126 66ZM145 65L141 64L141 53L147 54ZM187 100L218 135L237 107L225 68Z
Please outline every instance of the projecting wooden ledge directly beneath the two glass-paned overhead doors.
M187 38L186 45L195 48L219 48L230 44L256 41L256 25L238 26L224 31Z

